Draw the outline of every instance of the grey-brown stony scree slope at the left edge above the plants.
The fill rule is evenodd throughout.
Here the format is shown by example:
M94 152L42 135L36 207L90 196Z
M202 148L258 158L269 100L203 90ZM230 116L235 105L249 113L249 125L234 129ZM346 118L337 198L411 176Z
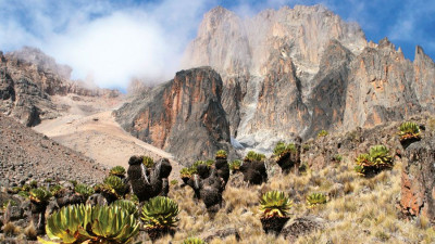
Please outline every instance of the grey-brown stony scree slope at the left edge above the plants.
M0 115L0 183L14 187L26 181L79 180L97 182L105 167L14 118Z

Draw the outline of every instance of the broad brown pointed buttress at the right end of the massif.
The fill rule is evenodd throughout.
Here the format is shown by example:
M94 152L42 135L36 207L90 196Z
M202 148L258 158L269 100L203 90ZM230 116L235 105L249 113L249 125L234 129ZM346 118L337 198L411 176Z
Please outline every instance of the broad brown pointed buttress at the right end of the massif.
M388 39L365 48L350 69L343 130L402 120L421 112L412 89L412 63Z

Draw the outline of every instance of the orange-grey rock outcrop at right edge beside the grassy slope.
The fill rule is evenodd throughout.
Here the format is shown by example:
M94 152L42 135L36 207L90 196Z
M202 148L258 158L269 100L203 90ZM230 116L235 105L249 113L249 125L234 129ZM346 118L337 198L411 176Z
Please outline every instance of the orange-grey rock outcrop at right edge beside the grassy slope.
M424 216L435 222L435 140L433 134L406 150L400 206L407 216Z

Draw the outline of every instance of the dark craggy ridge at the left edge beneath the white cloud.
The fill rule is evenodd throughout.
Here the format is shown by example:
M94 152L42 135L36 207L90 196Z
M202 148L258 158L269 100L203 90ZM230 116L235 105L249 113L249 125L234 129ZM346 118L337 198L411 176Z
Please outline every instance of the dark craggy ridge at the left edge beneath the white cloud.
M44 119L59 116L60 107L52 95L117 97L117 91L89 88L70 79L72 69L59 65L38 49L3 54L0 52L0 112L17 118L26 126L36 126Z

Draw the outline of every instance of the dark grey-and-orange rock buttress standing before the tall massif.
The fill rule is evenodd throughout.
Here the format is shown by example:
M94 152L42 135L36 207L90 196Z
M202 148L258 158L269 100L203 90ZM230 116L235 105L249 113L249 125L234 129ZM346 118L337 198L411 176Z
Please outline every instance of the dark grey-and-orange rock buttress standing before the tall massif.
M132 134L181 162L212 158L229 150L229 124L221 104L222 79L210 67L182 70L115 111Z

